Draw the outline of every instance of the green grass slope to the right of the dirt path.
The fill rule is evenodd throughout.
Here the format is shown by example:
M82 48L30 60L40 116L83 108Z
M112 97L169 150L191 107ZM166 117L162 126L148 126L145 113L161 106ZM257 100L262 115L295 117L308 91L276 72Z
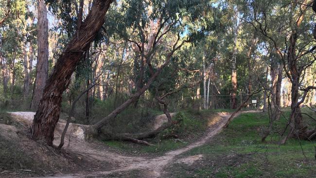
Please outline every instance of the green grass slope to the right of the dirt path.
M315 113L303 108L310 115ZM286 109L287 118L290 110ZM315 122L304 116L305 124L315 128ZM175 164L171 166L167 177L203 177L203 178L304 178L316 175L316 142L289 139L279 145L279 134L271 134L261 142L263 132L269 123L267 113L243 113L236 117L210 143L193 148L179 157L203 154L202 160L191 166ZM281 132L287 120L275 122L273 131ZM301 146L300 146L301 144ZM301 148L302 147L302 148ZM304 155L302 150L304 150Z

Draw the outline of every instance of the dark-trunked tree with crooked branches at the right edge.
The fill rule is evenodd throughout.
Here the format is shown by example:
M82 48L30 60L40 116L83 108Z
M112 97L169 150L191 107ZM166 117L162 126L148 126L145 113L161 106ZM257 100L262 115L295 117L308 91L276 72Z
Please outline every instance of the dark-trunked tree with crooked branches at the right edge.
M311 0L300 1L247 1L246 22L253 25L265 40L271 43L275 53L283 63L285 75L291 82L291 114L287 128L280 143L290 136L300 139L313 139L315 129L307 130L303 124L300 105L313 86L303 87L305 71L315 62L313 42L313 21ZM301 95L301 92L303 95Z

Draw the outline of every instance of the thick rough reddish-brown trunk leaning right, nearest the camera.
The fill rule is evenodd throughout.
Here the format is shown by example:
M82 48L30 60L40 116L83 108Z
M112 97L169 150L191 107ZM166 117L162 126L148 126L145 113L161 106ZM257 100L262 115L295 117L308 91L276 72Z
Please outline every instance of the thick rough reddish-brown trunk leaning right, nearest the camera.
M94 0L93 6L57 59L50 78L47 80L43 97L33 121L33 137L53 145L53 132L60 115L62 94L70 84L70 77L90 43L105 22L105 14L112 0Z

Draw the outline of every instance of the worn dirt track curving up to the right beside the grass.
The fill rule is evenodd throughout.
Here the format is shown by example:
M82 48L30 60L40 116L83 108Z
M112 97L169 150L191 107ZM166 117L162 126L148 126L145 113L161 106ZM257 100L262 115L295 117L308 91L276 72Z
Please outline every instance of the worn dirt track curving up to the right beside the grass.
M165 153L163 156L159 156L157 158L149 159L145 157L125 157L113 153L109 153L107 151L103 153L96 153L95 151L87 150L85 151L83 155L92 154L93 157L100 159L100 157L106 157L105 160L112 159L112 161L118 163L118 168L111 171L99 171L99 172L89 172L89 173L77 173L72 175L67 175L67 178L82 178L82 177L105 177L106 175L112 174L112 173L119 173L119 172L125 172L130 170L141 170L143 173L143 177L145 178L159 178L164 172L163 169L165 166L167 166L169 163L172 163L173 160L176 160L176 156L189 151L195 147L203 145L205 142L209 141L214 135L219 133L223 126L228 121L230 114L229 113L218 113L218 117L215 116L213 118L212 123L210 125L210 128L208 130L208 133L201 138L197 142L193 142L189 144L188 146L169 151ZM78 152L80 150L76 150ZM61 177L54 177L54 178L62 178Z

